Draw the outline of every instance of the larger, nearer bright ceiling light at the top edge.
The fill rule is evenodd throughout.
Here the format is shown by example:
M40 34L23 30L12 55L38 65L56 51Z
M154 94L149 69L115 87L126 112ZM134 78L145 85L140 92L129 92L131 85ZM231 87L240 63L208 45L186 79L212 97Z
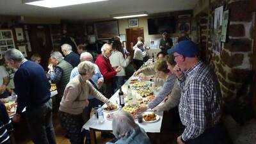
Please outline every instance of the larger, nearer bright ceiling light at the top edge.
M42 6L46 8L57 8L61 6L94 3L98 1L108 1L108 0L23 0L23 3L31 4L35 6Z

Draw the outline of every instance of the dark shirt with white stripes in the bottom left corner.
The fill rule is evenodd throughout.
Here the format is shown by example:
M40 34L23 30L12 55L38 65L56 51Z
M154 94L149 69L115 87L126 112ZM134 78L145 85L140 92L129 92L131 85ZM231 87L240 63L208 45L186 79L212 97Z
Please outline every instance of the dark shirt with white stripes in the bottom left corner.
M9 134L13 131L12 121L10 120L6 108L0 102L0 143L9 140Z

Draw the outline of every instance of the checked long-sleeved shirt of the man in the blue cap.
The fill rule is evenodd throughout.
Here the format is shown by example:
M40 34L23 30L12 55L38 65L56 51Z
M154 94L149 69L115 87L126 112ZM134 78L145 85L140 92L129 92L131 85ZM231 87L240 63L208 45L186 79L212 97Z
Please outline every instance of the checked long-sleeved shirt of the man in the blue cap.
M221 93L218 79L202 61L179 79L182 90L179 115L185 126L182 140L188 141L218 124L221 117Z

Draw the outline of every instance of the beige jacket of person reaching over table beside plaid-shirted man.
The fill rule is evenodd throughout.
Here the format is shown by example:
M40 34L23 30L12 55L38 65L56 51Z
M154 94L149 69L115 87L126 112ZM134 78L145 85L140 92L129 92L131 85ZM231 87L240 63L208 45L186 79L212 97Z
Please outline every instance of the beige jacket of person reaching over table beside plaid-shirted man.
M175 81L174 86L172 88L172 92L168 95L168 99L164 104L159 106L158 111L169 111L172 108L175 108L175 106L178 106L180 103L180 86L178 84L178 80Z

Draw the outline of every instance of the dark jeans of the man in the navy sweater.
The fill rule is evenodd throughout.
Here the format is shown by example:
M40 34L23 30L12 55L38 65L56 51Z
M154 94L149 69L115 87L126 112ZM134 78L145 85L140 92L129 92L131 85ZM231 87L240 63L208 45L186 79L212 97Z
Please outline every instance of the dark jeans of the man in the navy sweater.
M38 108L27 109L26 119L35 144L56 144L56 136L52 125L52 100L48 100Z

